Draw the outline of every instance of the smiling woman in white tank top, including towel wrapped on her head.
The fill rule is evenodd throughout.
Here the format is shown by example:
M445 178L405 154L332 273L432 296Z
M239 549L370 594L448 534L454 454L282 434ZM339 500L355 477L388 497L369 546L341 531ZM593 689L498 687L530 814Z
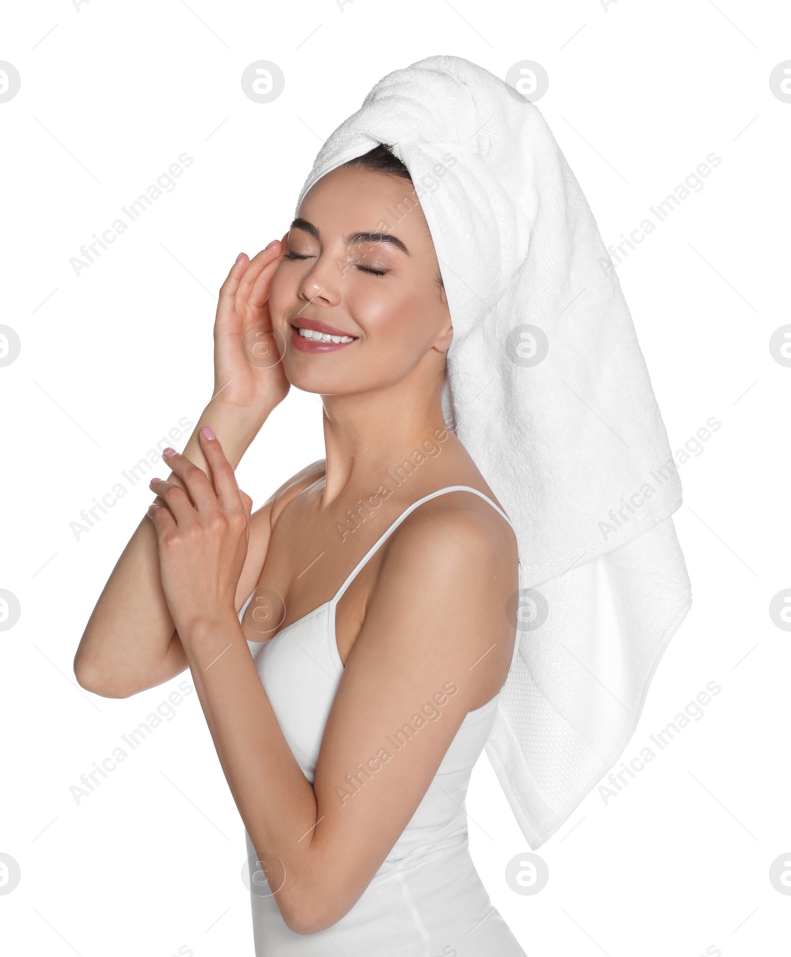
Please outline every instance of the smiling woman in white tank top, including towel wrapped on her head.
M481 749L534 851L619 787L691 590L613 257L537 107L429 56L231 269L213 397L75 670L124 697L189 667L257 954L523 955L468 850ZM325 459L251 514L233 470L292 385L321 397ZM546 879L529 857L505 866L520 893Z

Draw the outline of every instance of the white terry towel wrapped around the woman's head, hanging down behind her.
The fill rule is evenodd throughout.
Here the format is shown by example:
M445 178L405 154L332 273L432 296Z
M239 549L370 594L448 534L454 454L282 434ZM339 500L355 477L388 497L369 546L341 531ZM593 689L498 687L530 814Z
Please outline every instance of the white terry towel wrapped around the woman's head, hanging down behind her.
M516 527L517 648L486 750L535 850L618 761L690 608L681 482L620 283L538 108L429 56L341 123L297 209L380 143L409 169L439 257L447 418ZM398 234L407 208L379 231Z

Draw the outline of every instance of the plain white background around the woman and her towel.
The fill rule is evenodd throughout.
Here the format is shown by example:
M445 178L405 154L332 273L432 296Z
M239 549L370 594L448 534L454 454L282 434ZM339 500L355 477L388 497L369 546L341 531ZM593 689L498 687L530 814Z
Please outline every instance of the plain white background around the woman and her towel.
M70 793L189 678L124 701L77 686L77 642L147 482L79 540L70 523L180 418L197 421L212 297L235 256L287 230L323 139L371 86L434 54L500 77L519 60L544 66L538 107L608 245L708 154L722 161L618 266L671 448L721 422L680 469L692 612L624 758L708 682L722 690L622 793L605 804L594 790L538 850L550 877L535 896L504 879L528 848L482 757L468 800L476 865L531 957L788 952L791 896L769 867L791 859L791 635L768 609L791 587L791 368L769 350L791 322L791 103L769 74L791 58L790 20L780 4L736 0L5 8L0 59L22 85L0 103L0 323L21 353L0 368L0 588L21 617L0 633L0 852L22 877L0 895L4 952L253 954L243 827L194 694L92 794ZM286 78L268 104L240 85L258 59ZM194 162L176 189L77 278L70 257L183 152ZM319 457L319 403L293 389L239 482L257 505Z

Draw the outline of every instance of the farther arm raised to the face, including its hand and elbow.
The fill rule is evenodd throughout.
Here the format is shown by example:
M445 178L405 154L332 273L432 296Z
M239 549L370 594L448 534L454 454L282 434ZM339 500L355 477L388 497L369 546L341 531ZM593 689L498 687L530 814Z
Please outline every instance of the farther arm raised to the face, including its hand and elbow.
M289 389L282 363L276 361L267 301L272 277L286 252L285 239L252 260L240 256L220 290L214 323L214 397L184 450L184 455L208 474L197 439L199 430L204 426L212 429L236 468ZM267 354L273 357L272 364L267 362ZM172 474L163 478L182 484ZM293 481L287 483L287 487L292 485ZM253 590L263 568L272 506L280 491L253 513L237 601L245 589L244 597ZM77 647L74 668L82 687L106 698L127 698L187 668L160 582L156 532L147 516L123 549L99 596Z

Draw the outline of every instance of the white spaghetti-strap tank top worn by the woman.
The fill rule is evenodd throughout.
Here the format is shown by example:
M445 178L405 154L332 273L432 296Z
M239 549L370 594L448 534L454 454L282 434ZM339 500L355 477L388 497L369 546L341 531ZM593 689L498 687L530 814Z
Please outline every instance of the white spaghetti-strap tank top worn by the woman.
M269 640L248 641L277 723L311 784L343 672L335 636L338 603L368 559L411 512L437 496L457 491L488 501L510 524L494 501L468 485L432 492L406 508L329 601ZM239 612L240 621L253 594ZM372 952L377 957L437 957L453 950L458 957L495 953L524 957L474 869L464 810L472 767L489 737L498 699L499 693L467 714L403 834L363 896L337 924L316 934L289 930L266 880L251 865L256 957L337 957L339 953L370 957ZM248 857L254 858L250 836L247 832L245 836Z

